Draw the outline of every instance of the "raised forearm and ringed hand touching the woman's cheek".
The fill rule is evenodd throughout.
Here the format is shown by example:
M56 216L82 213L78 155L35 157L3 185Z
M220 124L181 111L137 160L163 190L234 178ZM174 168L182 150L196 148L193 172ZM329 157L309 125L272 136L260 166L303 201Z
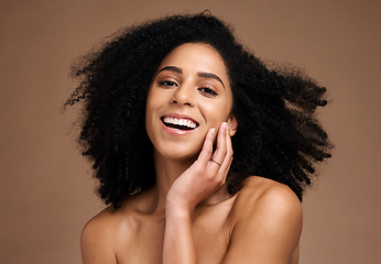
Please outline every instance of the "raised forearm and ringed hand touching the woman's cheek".
M192 216L199 202L225 184L232 158L227 123L222 123L219 129L215 153L213 153L213 141L214 129L208 132L197 161L174 182L167 194L164 264L196 263Z

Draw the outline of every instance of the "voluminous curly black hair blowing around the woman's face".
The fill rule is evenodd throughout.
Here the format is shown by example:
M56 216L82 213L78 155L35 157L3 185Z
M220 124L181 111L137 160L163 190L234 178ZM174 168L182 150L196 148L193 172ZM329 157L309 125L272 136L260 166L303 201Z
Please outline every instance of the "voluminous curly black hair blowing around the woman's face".
M144 125L148 88L163 58L184 43L213 46L227 66L238 121L230 194L258 175L287 185L302 200L316 163L330 157L331 144L315 118L316 108L327 105L326 88L293 67L266 66L238 43L232 28L203 12L123 29L73 65L79 85L65 106L84 103L78 141L106 205L118 208L155 183Z

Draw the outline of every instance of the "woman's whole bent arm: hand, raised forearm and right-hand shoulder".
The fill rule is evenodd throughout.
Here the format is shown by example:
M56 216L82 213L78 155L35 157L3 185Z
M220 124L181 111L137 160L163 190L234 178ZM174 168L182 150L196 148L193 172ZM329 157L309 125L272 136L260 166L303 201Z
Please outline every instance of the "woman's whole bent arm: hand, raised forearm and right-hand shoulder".
M164 264L196 263L192 215L197 204L225 184L232 151L230 138L222 143L224 136L218 134L217 150L213 154L213 136L209 132L197 162L178 177L168 191ZM218 165L210 162L211 155L217 161L221 161L217 156L226 156L226 164L222 163L221 170L218 169ZM226 162L227 160L229 162ZM286 264L291 260L296 263L303 223L301 202L284 185L269 179L259 182L262 183L248 184L236 200L232 208L235 228L222 263Z

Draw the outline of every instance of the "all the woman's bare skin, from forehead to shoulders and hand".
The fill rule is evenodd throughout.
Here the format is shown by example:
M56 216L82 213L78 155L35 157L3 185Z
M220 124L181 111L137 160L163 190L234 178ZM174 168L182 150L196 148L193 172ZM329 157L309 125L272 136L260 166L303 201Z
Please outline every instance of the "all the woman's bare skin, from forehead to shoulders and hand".
M235 196L226 189L237 129L231 101L224 61L210 46L184 44L163 61L145 117L156 185L86 224L84 263L297 263L302 208L294 193L257 176ZM173 114L197 129L163 125Z

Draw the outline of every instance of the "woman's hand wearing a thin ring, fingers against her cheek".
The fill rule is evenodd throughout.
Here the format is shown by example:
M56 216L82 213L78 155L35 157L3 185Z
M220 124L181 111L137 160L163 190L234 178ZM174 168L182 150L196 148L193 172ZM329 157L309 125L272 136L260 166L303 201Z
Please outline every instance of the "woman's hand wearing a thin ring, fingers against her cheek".
M195 207L226 183L232 161L229 127L222 122L213 152L215 129L206 135L197 161L172 185L166 196L166 209L192 213Z

